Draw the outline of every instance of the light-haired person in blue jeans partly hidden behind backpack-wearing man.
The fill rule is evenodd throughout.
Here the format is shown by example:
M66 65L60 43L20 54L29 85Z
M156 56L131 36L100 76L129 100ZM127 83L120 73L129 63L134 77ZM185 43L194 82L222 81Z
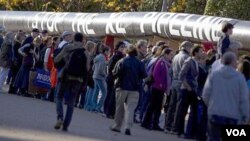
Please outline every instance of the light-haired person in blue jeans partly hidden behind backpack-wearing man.
M81 97L81 106L84 107L86 111L91 110L91 103L92 103L92 98L93 98L93 92L94 92L94 79L93 79L93 70L92 67L94 65L94 58L96 57L96 46L97 44L92 41L88 41L85 45L86 50L88 51L90 55L90 69L88 70L88 79L87 79L87 92L85 95L85 102L83 103L83 98ZM84 104L84 105L83 105ZM80 107L81 107L80 106Z

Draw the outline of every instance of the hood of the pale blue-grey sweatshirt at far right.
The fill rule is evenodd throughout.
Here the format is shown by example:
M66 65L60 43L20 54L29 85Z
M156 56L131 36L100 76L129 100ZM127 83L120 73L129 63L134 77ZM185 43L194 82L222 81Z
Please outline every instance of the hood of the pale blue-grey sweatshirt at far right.
M231 66L223 66L218 70L219 75L221 75L225 79L231 79L233 77L237 77L237 71Z

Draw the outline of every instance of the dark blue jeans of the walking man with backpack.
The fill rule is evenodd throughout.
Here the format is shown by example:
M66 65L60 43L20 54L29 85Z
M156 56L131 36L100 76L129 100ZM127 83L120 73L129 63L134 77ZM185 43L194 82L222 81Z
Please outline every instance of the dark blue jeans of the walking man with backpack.
M78 81L67 80L58 83L57 86L57 96L56 96L56 111L57 119L64 119L63 126L67 128L71 122L71 118L74 111L74 105L76 101L76 96L80 90L81 83ZM63 98L64 94L68 93L67 97L67 112L65 118L63 118Z

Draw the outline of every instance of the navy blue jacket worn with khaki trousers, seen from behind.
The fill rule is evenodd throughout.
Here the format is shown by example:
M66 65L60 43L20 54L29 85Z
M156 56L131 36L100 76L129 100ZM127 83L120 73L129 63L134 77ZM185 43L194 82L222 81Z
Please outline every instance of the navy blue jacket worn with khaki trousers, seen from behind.
M135 56L128 56L120 60L114 70L116 88L127 91L138 91L142 79L147 77L144 64Z

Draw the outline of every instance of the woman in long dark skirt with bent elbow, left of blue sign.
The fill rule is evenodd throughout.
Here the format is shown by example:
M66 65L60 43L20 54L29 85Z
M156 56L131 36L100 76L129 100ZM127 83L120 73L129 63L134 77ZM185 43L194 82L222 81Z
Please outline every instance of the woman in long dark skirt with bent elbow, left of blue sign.
M29 73L39 59L38 46L41 44L41 39L36 37L31 44L25 44L18 49L18 52L23 56L23 62L20 70L17 73L14 86L19 90L18 94L23 96L28 95Z

